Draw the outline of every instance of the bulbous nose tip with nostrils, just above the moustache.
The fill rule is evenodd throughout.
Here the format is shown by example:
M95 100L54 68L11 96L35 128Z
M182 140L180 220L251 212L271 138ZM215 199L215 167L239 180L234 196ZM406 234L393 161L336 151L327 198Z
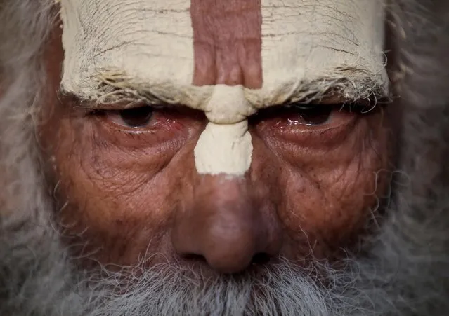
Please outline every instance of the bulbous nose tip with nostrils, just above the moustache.
M202 256L212 269L226 274L240 273L252 263L262 263L261 258L278 252L278 238L273 238L268 226L254 218L229 216L229 212L221 209L228 216L216 214L207 221L190 219L178 224L172 235L176 252ZM235 213L242 215L239 211Z

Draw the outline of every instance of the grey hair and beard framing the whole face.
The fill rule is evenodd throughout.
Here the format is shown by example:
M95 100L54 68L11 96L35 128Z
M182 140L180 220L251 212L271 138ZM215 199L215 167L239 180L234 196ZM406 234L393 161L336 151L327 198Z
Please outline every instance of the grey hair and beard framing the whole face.
M50 0L0 0L0 315L448 315L449 5L391 0L388 8L390 78L401 96L393 112L401 124L386 215L342 271L315 263L298 272L284 262L264 280L265 301L249 304L261 286L248 282L256 277L223 277L202 288L167 266L111 274L101 285L67 273L70 257L51 229L43 191L34 116L46 93L42 55L57 11ZM326 271L327 285L316 282L316 269ZM130 290L115 296L105 283L117 288L121 277Z

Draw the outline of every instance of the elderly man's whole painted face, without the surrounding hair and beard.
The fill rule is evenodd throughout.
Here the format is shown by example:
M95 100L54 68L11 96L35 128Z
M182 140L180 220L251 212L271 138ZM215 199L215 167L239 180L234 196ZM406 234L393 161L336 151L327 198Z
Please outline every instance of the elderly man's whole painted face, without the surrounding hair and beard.
M348 90L377 81L370 65L382 51L363 38L375 32L355 30L382 25L371 4L322 0L318 13L297 4L292 24L264 1L171 1L152 11L162 4L141 1L89 17L90 5L62 2L70 34L65 51L58 26L48 44L39 140L74 252L239 273L280 257L333 261L357 242L389 169L377 92ZM71 24L77 14L90 23L83 36ZM317 35L331 29L332 39ZM58 95L61 74L67 93Z

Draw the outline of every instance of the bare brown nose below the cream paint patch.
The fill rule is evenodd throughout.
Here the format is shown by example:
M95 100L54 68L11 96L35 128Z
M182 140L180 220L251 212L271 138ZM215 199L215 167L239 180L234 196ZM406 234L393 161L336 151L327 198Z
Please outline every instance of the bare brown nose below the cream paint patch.
M190 206L176 214L171 239L181 256L202 256L219 273L239 273L278 254L279 226L245 181L204 176Z

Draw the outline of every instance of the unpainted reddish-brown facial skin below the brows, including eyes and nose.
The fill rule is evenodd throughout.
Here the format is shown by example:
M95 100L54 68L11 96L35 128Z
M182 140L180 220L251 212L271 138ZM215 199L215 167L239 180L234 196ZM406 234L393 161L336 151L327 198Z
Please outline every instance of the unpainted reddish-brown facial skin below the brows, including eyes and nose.
M47 46L38 135L60 229L86 266L145 257L238 273L280 257L333 261L357 244L388 186L381 106L362 113L337 95L261 110L249 119L248 172L198 174L204 113L182 104L104 111L58 95L60 36L56 27Z

